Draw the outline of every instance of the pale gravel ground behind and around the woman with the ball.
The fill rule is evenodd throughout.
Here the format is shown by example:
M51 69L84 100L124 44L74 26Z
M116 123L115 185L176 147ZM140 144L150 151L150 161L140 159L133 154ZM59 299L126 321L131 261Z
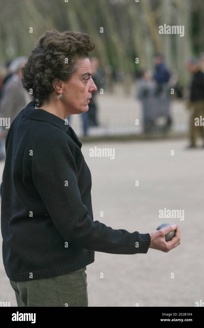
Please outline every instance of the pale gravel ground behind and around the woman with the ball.
M185 150L187 144L187 140L83 144L92 174L94 220L129 232L150 233L164 222L176 223L181 230L181 244L169 253L95 252L95 261L86 270L89 306L192 307L204 301L204 149ZM115 148L115 159L89 157L95 146ZM0 162L1 177L3 168ZM158 211L164 208L184 210L184 220L159 218ZM0 300L16 306L2 256L0 274Z

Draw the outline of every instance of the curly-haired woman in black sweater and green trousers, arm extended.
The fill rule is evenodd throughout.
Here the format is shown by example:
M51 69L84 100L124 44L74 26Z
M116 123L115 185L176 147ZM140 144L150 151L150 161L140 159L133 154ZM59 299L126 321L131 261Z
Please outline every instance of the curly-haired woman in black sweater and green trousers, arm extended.
M1 184L3 260L18 306L88 306L85 270L94 251L170 250L158 231L150 237L93 221L91 174L64 119L88 111L97 91L94 47L87 34L46 31L22 70L33 101L10 126Z

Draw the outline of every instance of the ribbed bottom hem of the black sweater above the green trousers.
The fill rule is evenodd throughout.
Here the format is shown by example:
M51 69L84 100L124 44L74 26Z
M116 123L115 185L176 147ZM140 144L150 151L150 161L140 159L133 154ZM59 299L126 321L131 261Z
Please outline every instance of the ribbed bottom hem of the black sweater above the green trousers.
M31 270L31 271L25 271L25 272L18 272L18 273L11 273L9 274L6 271L7 276L12 281L26 281L26 280L34 280L34 279L43 279L43 278L49 278L49 277L55 277L64 275L66 273L70 273L73 271L77 271L81 268L83 268L85 265L91 264L94 262L94 253L89 254L79 261L72 263L72 264L65 264L61 265L55 268L49 268L49 269L42 269L42 270ZM29 274L32 272L33 278L29 278Z

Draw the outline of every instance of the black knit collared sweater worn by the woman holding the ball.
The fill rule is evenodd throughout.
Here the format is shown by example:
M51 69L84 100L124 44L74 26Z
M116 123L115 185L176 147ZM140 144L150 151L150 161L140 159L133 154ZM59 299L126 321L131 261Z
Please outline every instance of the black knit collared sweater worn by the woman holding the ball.
M94 251L147 253L149 234L93 221L81 147L66 120L32 101L13 120L0 188L3 262L11 280L79 270L94 262Z

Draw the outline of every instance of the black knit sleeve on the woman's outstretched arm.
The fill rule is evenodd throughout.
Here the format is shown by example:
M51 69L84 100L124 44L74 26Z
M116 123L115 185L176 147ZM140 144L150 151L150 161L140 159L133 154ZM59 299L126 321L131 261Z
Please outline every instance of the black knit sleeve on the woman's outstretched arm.
M78 171L71 143L69 145L67 140L47 134L38 141L33 140L31 149L34 185L65 241L110 254L147 253L151 241L149 234L114 230L93 221L88 215L78 187Z

